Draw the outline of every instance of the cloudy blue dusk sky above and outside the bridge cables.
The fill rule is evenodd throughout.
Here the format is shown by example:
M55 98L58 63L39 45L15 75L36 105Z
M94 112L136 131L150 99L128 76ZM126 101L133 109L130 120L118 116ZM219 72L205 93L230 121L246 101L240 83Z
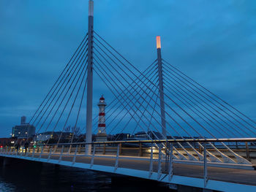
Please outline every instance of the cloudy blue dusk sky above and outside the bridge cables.
M138 69L157 58L160 35L166 61L253 120L255 20L249 0L94 1L94 30ZM10 137L86 34L88 1L1 0L0 23L0 137Z

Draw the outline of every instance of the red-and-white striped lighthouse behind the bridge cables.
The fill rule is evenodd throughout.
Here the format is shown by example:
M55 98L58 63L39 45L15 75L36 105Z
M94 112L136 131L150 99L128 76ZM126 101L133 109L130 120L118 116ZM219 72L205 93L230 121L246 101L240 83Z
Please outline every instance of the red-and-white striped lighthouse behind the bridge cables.
M97 104L99 107L99 123L98 123L98 132L96 136L97 142L107 141L106 134L106 124L105 124L105 107L107 104L105 103L105 98L101 96L99 98L99 103Z

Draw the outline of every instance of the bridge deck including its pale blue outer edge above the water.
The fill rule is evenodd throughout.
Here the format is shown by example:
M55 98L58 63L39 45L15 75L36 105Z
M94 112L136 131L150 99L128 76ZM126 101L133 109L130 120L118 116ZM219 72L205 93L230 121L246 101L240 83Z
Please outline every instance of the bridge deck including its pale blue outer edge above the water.
M60 154L34 154L7 155L2 157L19 158L28 161L39 161L43 163L72 166L82 169L91 169L100 172L124 174L132 177L140 177L148 180L158 180L163 183L177 185L188 185L197 188L204 188L203 166L192 164L173 163L173 177L169 179L165 162L162 163L162 174L157 173L157 160L153 161L153 172L149 174L148 158L119 156L118 166L115 155L62 155ZM208 167L207 189L217 191L256 191L256 172L249 169L230 169L224 167Z

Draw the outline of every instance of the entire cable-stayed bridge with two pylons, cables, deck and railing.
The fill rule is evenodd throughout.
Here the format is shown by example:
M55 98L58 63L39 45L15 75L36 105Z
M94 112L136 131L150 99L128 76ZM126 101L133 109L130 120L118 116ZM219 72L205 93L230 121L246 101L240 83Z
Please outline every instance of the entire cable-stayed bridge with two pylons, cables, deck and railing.
M160 37L156 60L140 72L94 31L93 7L90 0L88 33L29 121L37 133L0 155L158 180L170 188L256 191L255 121L165 61ZM93 96L99 89L113 99L100 115ZM75 134L80 126L86 135ZM46 131L49 137L39 140ZM136 131L144 136L121 139Z

